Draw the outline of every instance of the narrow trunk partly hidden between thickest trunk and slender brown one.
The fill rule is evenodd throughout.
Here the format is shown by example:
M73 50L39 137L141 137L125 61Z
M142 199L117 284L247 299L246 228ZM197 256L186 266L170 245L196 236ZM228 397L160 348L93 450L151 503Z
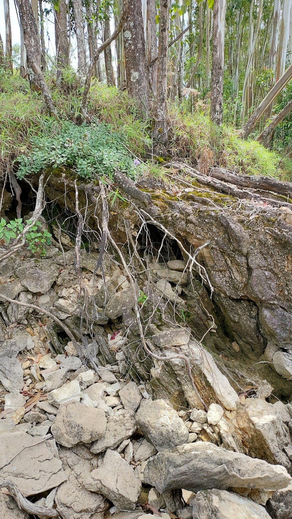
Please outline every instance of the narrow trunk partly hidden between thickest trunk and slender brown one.
M147 0L147 57L150 64L157 58L156 36L156 0ZM157 91L157 61L150 67L150 84L156 96Z

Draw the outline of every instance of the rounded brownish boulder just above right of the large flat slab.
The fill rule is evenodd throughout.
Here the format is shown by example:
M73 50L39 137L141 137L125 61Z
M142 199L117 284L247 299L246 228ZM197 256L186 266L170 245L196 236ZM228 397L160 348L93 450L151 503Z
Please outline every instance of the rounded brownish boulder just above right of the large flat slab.
M102 438L106 430L104 411L79 402L61 404L51 425L56 442L73 447L79 442L91 443Z

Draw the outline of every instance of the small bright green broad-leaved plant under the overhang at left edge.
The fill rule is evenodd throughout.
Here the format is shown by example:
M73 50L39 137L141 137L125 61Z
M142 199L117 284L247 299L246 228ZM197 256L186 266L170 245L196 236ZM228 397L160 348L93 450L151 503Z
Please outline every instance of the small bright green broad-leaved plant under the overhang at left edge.
M27 221L31 223L31 220ZM46 245L51 243L51 234L45 229L43 232L39 229L41 227L40 222L35 222L31 227L30 232L26 233L25 241L27 243L27 249L32 251L36 256L44 257L46 255ZM0 239L3 239L6 244L10 243L11 239L17 238L23 231L22 218L16 218L10 220L7 224L4 218L0 221Z

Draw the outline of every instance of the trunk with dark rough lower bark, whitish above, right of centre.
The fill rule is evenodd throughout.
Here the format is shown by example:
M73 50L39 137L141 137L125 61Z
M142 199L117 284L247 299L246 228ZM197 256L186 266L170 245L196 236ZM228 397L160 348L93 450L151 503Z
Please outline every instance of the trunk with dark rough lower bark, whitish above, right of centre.
M210 117L218 126L223 124L225 12L225 0L214 0Z

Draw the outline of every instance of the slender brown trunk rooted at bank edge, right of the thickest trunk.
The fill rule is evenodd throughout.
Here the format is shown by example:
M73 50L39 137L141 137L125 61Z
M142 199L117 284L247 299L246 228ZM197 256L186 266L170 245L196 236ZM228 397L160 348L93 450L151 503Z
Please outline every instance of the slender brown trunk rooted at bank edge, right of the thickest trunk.
M166 95L168 89L169 10L170 0L161 0L159 9L155 138L163 144L168 141Z

